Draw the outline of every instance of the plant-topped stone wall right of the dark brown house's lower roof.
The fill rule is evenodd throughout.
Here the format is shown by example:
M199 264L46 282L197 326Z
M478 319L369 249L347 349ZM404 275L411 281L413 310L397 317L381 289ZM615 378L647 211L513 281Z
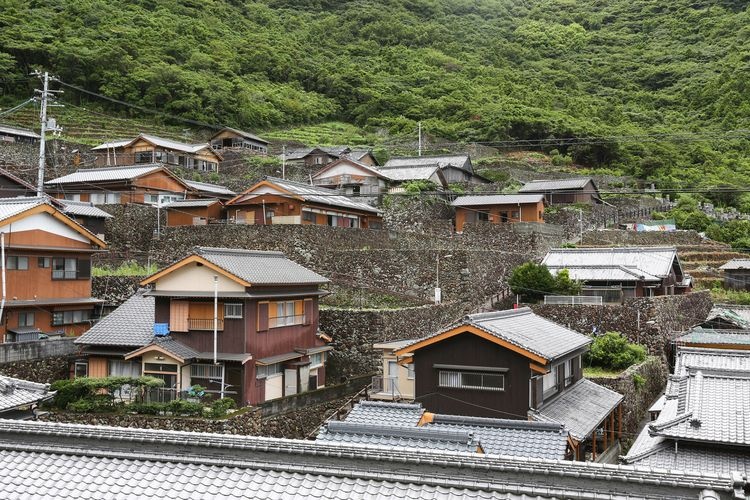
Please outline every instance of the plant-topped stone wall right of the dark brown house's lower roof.
M662 358L649 357L639 365L631 366L617 378L591 377L592 382L619 392L622 401L622 454L635 441L639 424L648 408L664 391L669 371Z

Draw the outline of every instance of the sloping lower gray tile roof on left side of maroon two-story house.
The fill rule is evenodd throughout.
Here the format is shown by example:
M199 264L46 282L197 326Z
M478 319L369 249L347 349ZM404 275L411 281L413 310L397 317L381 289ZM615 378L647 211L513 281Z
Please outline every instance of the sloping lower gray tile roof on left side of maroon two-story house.
M102 318L76 344L141 347L154 338L154 298L138 290L120 307Z

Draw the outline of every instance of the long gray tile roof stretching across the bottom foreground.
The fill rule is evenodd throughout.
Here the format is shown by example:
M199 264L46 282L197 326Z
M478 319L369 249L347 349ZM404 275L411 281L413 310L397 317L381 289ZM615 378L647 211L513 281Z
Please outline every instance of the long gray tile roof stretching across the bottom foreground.
M747 478L379 445L0 421L0 497L742 498Z

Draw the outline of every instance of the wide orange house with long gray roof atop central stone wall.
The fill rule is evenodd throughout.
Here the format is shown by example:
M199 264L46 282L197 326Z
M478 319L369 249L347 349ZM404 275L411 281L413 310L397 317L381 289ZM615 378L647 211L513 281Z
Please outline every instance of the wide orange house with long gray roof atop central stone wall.
M380 229L375 207L338 191L299 182L264 179L226 203L227 218L239 224L318 224Z

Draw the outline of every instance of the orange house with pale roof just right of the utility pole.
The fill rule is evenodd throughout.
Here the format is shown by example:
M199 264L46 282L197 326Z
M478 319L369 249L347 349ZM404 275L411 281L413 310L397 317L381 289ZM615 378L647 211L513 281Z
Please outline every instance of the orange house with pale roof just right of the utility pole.
M208 192L212 193L209 197L218 197L207 187L210 184L180 179L161 163L79 169L47 181L45 186L55 198L94 205L164 205L186 198L204 198L203 193ZM223 186L214 189L226 191Z

